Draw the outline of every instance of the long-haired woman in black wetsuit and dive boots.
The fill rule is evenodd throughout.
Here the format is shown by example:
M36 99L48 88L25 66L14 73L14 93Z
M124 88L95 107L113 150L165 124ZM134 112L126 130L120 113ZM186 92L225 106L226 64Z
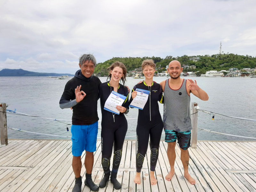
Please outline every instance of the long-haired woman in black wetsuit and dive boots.
M113 183L115 189L120 189L122 185L117 181L116 175L122 157L124 138L127 132L127 121L124 113L127 114L129 109L129 92L128 89L124 87L124 85L119 83L119 81L121 80L123 84L125 83L127 70L124 64L121 62L113 63L107 70L109 70L108 79L110 79L110 81L100 84L99 88L100 107L102 114L101 163L104 170L104 177L100 181L99 187L104 188L109 180L110 157L112 154L112 148L114 143L113 167L111 171L110 181L111 183ZM116 106L116 109L120 112L119 115L104 109L105 102L112 91L115 91L126 97L126 100L124 101L122 106Z

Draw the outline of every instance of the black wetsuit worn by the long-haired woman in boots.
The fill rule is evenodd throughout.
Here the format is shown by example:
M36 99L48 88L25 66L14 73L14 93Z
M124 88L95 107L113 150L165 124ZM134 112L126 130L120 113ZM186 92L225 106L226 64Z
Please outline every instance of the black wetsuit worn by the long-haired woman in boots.
M109 172L110 157L114 143L113 170L117 172L121 157L124 138L127 132L127 120L124 113L119 115L113 114L104 109L104 105L108 96L114 87L111 87L108 82L100 84L100 108L101 108L101 152L102 152L102 167L105 173ZM129 109L128 89L124 85L119 84L117 93L126 96L126 100L122 104L123 107Z

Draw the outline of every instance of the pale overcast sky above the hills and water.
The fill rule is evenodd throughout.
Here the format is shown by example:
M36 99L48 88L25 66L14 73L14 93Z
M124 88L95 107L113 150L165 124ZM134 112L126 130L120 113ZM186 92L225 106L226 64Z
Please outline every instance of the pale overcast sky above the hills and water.
M111 3L110 3L111 2ZM0 0L0 70L74 74L78 58L256 56L255 0Z

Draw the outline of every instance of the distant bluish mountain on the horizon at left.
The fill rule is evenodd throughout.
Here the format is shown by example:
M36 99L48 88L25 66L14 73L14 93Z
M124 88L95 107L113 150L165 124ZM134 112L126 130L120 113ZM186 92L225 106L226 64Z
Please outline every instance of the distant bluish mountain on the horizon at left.
M37 73L32 71L26 71L23 69L3 69L0 71L0 76L74 76L68 73Z

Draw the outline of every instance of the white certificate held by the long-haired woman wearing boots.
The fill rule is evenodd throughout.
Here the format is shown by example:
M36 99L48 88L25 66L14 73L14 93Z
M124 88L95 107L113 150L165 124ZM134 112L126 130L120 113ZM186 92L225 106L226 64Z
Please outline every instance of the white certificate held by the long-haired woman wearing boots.
M119 115L120 112L116 109L116 106L122 106L124 100L126 100L124 95L112 91L105 102L104 109Z

